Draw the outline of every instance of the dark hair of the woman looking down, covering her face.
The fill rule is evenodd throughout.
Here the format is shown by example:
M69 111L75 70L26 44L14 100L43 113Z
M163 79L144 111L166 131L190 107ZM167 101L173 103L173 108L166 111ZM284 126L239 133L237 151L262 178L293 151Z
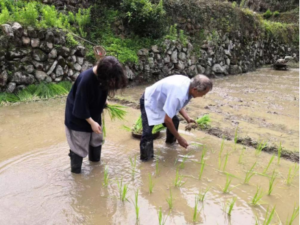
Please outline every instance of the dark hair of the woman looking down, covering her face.
M109 96L114 96L118 89L125 88L127 85L123 67L113 56L105 56L100 60L96 72L99 84L108 90Z

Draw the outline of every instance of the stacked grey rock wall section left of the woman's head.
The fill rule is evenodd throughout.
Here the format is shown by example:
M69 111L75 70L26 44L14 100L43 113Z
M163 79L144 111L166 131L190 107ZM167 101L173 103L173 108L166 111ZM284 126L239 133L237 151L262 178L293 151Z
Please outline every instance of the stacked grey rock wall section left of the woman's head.
M67 47L61 30L24 29L19 23L2 25L0 91L16 92L45 82L73 81L90 66L83 46Z

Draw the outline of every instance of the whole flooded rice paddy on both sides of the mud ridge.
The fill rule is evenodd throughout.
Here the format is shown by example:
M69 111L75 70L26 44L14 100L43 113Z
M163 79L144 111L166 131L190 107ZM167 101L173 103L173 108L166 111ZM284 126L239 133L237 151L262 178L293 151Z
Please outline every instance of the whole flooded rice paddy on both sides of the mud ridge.
M212 127L233 135L238 125L241 136L297 151L299 87L299 71L215 79L214 91L194 99L188 112L209 113ZM123 97L137 101L143 89L129 88ZM300 206L299 164L202 131L185 132L185 124L180 133L190 144L187 150L165 144L162 132L154 142L155 159L140 162L139 140L122 128L140 115L132 107L125 121L106 116L101 162L85 158L82 174L73 175L64 107L62 98L0 108L0 224L152 225L160 224L159 212L165 224L264 224L270 214L270 224L288 224L294 206ZM258 189L260 200L254 198Z

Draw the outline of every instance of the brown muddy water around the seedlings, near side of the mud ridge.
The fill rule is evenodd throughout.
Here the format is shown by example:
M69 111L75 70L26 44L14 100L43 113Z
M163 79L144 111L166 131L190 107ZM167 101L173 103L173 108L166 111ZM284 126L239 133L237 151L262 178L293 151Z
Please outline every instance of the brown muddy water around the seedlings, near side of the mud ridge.
M239 79L242 77L237 77ZM222 83L222 80L216 82ZM136 93L140 90L136 89ZM217 96L212 93L211 99L202 101L217 101L214 100ZM292 162L281 159L278 165L275 158L263 175L271 158L269 154L256 156L254 149L247 148L239 163L243 146L234 147L232 142L225 141L219 169L221 140L198 131L186 133L184 126L180 127L180 132L190 143L187 151L177 144L166 145L162 132L155 141L158 170L156 160L142 163L137 159L133 177L129 158L139 157L139 142L122 129L122 125L131 126L139 115L139 111L132 108L128 108L123 122L110 122L106 116L108 133L101 163L85 159L82 174L73 175L69 171L64 137L64 101L55 99L0 109L0 224L136 224L133 201L137 189L139 224L158 224L160 207L166 224L193 224L195 195L206 189L204 202L197 202L199 218L195 224L250 225L255 224L256 218L263 223L267 208L273 206L276 206L276 213L272 224L285 224L294 205L300 205L300 170L295 172L291 185L286 184L289 168L294 166ZM203 105L199 105L200 114ZM207 149L206 163L199 180L203 146ZM224 167L227 153L228 162ZM256 174L249 184L243 184L246 172L255 162ZM105 167L110 178L108 187L103 186ZM174 186L177 169L185 182L181 187ZM268 196L267 176L274 170L278 173L276 184ZM152 194L148 191L149 174L154 182ZM125 202L120 200L118 193L117 183L121 179L129 187ZM226 179L232 180L229 193L222 191ZM257 186L265 194L260 204L254 206L250 202ZM168 210L166 202L170 190L174 201L172 211ZM236 204L228 216L225 205L235 197ZM300 224L300 217L294 224Z

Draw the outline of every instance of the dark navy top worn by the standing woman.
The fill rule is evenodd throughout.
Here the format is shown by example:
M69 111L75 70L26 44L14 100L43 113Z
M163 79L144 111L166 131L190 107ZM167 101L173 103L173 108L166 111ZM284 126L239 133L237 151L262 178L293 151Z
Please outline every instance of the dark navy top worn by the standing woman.
M91 117L101 124L101 113L107 95L107 90L99 85L93 68L82 72L67 98L65 125L71 130L93 132L86 119Z

